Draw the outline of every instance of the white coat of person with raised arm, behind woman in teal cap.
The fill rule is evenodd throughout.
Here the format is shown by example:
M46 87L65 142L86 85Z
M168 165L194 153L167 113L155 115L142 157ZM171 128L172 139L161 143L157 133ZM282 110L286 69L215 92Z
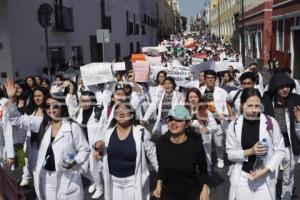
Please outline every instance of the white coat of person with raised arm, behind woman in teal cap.
M165 96L165 92L162 92L161 95L157 96L151 102L151 104L149 105L149 108L147 109L147 111L144 115L144 118L143 118L143 120L147 122L150 119L151 115L154 114L154 112L156 112L156 110L158 109L158 114L157 114L157 118L156 118L155 124L152 129L152 133L155 133L156 131L158 131L159 127L160 127L162 102L163 102L164 96ZM172 108L174 108L176 105L183 105L184 99L183 99L183 96L181 95L181 93L179 93L177 91L173 91L173 98L172 98L171 103L172 103Z

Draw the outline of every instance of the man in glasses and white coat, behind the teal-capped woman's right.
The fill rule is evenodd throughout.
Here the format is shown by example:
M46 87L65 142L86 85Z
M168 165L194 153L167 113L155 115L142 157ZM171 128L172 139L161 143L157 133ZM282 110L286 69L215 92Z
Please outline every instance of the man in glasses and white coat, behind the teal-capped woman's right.
M213 70L205 71L205 82L206 86L200 88L200 92L204 97L205 101L208 103L209 111L214 115L218 123L218 131L213 135L214 142L216 144L216 152L218 168L224 167L223 159L223 130L226 129L225 117L228 116L227 110L227 96L228 93L216 86L217 73Z

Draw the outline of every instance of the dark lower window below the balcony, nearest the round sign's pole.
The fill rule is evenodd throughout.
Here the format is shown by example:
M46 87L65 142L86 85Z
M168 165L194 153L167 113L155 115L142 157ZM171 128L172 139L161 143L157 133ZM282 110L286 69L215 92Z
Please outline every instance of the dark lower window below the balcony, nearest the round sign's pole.
M56 71L65 67L66 59L65 59L65 49L64 47L50 47L50 61L51 67Z

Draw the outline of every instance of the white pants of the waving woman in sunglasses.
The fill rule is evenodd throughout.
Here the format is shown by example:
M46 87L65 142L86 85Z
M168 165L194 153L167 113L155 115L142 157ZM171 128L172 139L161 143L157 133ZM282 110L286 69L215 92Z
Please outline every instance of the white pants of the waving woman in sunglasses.
M42 169L41 187L43 200L56 200L57 177L56 172Z

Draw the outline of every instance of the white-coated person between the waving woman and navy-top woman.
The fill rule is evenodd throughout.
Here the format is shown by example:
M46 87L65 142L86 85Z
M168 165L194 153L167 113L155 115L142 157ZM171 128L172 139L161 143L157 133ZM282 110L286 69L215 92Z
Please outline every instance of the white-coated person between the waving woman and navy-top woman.
M93 158L93 145L96 142L96 134L99 134L101 131L99 119L103 107L97 106L96 96L91 91L82 92L80 107L76 121L81 125L91 149L89 155L89 170L84 176L91 181L88 192L94 193L92 199L98 199L103 194L103 181L100 176L100 162Z

